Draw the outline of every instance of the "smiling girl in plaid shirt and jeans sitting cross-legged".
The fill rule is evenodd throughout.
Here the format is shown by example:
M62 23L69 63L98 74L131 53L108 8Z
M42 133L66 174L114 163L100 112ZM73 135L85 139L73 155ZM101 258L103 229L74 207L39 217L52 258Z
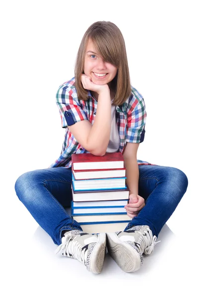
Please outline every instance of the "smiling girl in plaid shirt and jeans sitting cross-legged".
M106 234L84 233L66 214L71 201L71 154L123 152L131 222L125 231L107 233L109 254L125 272L138 270L187 190L179 169L137 160L144 140L145 105L130 83L123 35L111 22L95 22L85 32L77 54L75 77L62 84L57 104L66 129L61 156L48 168L21 175L19 200L67 257L100 273Z

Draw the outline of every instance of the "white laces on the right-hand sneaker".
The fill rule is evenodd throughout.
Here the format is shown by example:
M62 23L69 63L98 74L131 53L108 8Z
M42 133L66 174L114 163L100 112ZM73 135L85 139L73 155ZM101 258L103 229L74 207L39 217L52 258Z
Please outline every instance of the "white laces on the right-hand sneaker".
M157 244L160 241L156 242L157 237L152 236L152 231L149 228L146 228L145 230L138 230L139 238L136 242L136 246L139 248L141 253L144 253L145 255L150 255L153 250L155 244Z

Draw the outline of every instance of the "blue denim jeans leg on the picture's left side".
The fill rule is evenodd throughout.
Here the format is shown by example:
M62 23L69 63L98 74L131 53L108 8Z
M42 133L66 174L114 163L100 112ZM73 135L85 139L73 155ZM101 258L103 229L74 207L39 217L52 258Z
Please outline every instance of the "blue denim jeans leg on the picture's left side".
M64 209L70 207L72 199L70 169L55 167L24 173L17 179L15 191L55 244L61 244L63 230L82 230Z

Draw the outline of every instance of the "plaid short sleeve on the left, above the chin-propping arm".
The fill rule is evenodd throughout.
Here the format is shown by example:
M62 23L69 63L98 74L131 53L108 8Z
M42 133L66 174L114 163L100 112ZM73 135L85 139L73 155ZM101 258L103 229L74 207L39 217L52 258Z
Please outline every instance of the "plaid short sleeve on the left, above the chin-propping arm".
M62 120L62 127L73 125L82 120L88 120L84 105L77 98L75 88L61 86L56 94L56 103Z

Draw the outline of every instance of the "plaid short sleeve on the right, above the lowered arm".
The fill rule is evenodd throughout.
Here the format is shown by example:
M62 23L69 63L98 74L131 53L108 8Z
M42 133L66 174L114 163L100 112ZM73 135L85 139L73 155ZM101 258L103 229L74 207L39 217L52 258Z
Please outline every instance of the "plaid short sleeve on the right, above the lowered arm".
M128 105L127 140L129 143L142 143L145 135L146 111L142 95L134 89Z

